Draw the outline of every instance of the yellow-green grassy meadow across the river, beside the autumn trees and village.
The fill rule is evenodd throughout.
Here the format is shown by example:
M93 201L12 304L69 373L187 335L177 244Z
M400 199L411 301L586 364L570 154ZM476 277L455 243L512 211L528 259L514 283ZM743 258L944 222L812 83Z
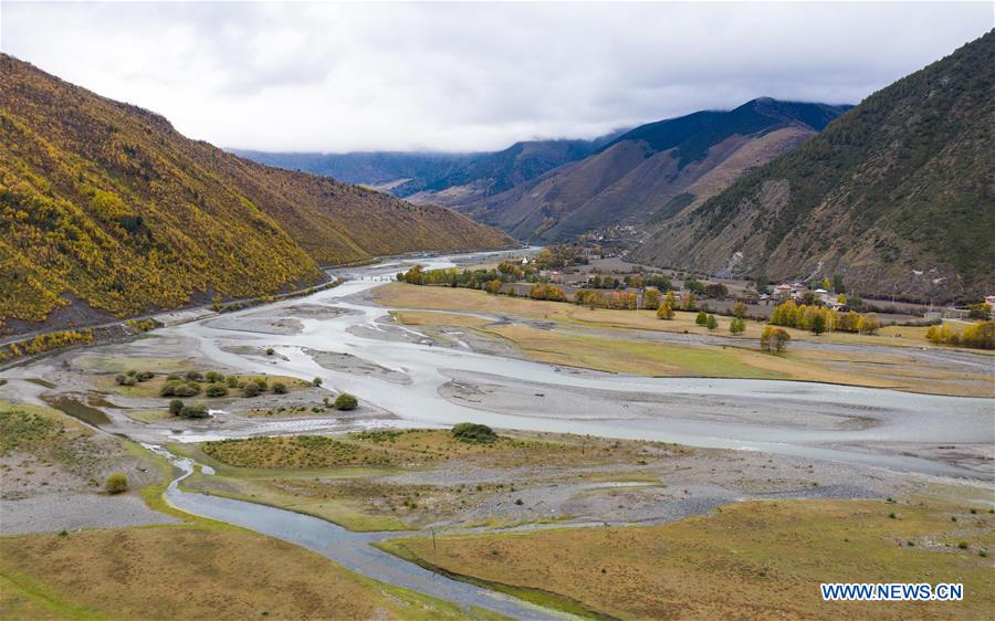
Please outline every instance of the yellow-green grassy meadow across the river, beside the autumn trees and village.
M761 351L760 334L766 324L746 322L744 335L729 334L729 318L709 330L694 323L694 313L677 313L674 320L656 318L651 310L590 309L573 304L488 295L468 288L415 286L395 283L374 290L378 302L402 308L392 310L405 325L427 329L457 327L484 338L509 344L523 356L554 365L649 377L714 377L818 381L909 392L964 397L995 397L995 386L984 376L965 377L955 370L924 361L917 352L928 345L925 328L888 327L881 335L834 333L815 336L787 328L792 339L861 346L893 346L898 350L809 349L790 347L779 355ZM551 322L555 330L527 325L494 323L454 312L514 315ZM727 345L660 343L639 338L639 331L669 331L729 337ZM642 333L646 334L645 331ZM440 338L448 338L440 335ZM908 354L904 351L908 350Z

